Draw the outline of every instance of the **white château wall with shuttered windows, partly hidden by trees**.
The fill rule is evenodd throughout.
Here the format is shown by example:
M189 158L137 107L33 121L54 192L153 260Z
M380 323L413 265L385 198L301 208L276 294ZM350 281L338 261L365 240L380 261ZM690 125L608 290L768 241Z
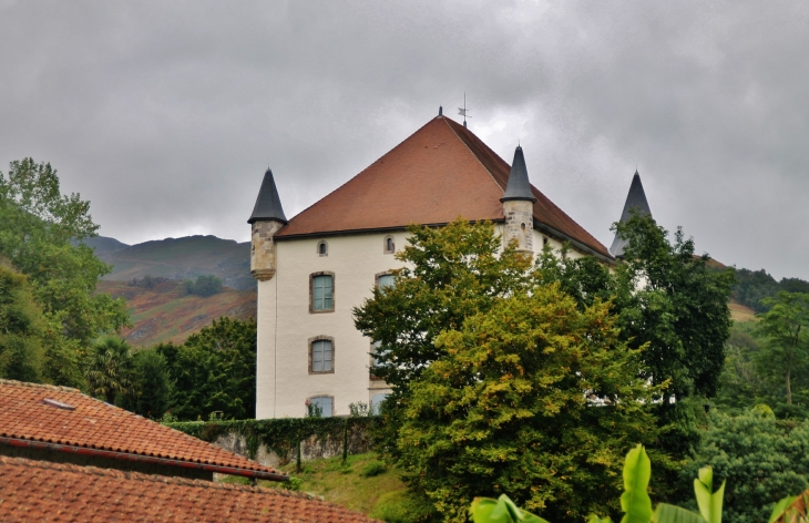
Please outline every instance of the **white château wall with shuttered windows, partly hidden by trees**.
M495 226L502 235L503 226ZM392 254L385 254L385 239L392 236L396 249L407 233L356 234L276 242L277 270L272 279L258 281L258 362L256 418L298 418L305 401L317 396L334 398L334 416L347 416L352 402L370 402L388 390L369 377L371 340L354 327L351 309L371 296L375 277L401 267ZM541 252L542 233L533 232L533 249ZM320 240L328 255L320 256ZM549 238L559 249L562 243ZM570 256L582 256L571 252ZM334 273L334 312L309 311L309 276ZM309 339L334 338L334 372L309 373Z

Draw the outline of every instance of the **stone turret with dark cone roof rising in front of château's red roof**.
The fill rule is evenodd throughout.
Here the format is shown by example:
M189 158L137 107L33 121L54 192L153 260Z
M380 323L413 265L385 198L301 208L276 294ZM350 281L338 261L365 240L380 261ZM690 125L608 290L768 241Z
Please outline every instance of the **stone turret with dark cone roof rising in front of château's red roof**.
M512 239L516 239L519 250L533 253L534 202L536 202L536 197L531 189L525 156L523 156L522 147L519 145L514 151L514 161L511 163L509 184L505 186L505 192L500 202L503 204L503 216L505 216L503 242L508 245Z

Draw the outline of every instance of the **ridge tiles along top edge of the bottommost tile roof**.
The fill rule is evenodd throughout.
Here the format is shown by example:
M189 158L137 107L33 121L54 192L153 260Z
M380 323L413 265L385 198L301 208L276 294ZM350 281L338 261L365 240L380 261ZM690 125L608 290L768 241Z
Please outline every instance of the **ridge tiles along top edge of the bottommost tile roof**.
M0 455L0 464L19 464L20 466L28 466L32 469L43 470L61 470L68 472L76 472L86 475L99 475L106 478L124 478L127 480L137 480L150 483L174 483L186 486L201 486L206 489L218 489L218 490L235 490L242 492L253 493L274 493L278 495L286 495L289 498L301 498L306 500L325 501L322 496L308 494L305 492L294 492L284 489L267 489L264 486L250 486L250 485L238 485L233 483L217 483L206 480L191 480L187 478L167 476L157 474L145 474L143 472L134 471L122 471L117 469L103 469L93 465L76 465L73 463L55 463L51 461L30 460L27 458L12 458L7 455Z

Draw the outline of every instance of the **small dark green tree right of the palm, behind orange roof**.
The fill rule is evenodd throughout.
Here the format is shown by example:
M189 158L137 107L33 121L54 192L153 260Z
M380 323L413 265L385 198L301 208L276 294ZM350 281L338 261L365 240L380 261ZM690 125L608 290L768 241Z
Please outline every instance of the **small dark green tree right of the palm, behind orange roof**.
M164 419L174 396L165 358L155 349L146 349L135 352L133 363L133 390L123 398L122 407L144 418Z

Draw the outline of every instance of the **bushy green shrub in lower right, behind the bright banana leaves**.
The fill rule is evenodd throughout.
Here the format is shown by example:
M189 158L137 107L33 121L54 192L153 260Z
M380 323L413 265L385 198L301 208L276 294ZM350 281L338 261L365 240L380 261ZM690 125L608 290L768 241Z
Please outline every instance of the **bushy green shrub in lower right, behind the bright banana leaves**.
M807 488L809 424L776 420L757 409L741 416L710 414L710 424L683 481L707 464L727 481L724 520L728 523L766 521L774 503Z

